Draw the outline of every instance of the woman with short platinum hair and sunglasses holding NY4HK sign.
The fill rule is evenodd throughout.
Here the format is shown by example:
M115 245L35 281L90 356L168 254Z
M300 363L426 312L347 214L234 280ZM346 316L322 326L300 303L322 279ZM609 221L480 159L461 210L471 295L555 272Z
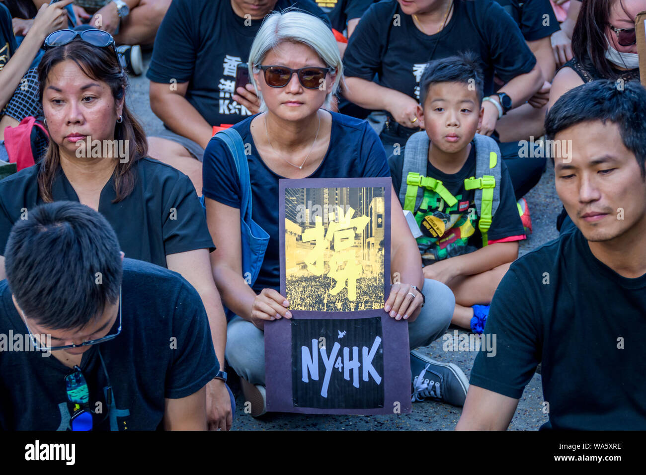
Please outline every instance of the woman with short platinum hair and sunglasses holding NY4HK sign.
M238 172L229 149L215 138L204 154L203 194L217 246L211 254L214 279L225 305L236 314L227 326L225 355L242 377L251 414L260 416L266 410L264 323L291 318L289 302L279 293L278 180L390 173L379 137L368 123L322 109L339 87L342 63L335 38L320 19L302 12L267 17L251 47L249 67L261 99L260 114L233 128L245 144L253 218L270 236L253 286L242 275ZM424 280L417 245L394 191L391 215L397 232L391 235L390 266L399 278L393 279L398 283L391 286L383 308L402 324L408 321L411 348L426 346L448 328L455 299L440 282ZM422 308L424 300L428 303ZM461 388L441 388L443 400L461 405L468 383L459 368L427 363L436 375L426 378ZM437 397L436 392L427 393L422 396Z

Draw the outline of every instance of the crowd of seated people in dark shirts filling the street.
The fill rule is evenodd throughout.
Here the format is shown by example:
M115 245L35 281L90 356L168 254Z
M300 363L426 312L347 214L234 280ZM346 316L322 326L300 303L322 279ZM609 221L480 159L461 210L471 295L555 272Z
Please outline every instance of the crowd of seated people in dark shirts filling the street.
M562 3L0 1L0 333L36 350L0 348L0 430L229 430L238 386L262 417L265 325L293 318L284 178L391 178L389 290L322 310L406 326L413 402L504 430L540 364L545 428L643 428L646 0ZM128 103L142 47L154 136ZM560 237L519 258L550 161ZM495 357L413 351L450 325Z

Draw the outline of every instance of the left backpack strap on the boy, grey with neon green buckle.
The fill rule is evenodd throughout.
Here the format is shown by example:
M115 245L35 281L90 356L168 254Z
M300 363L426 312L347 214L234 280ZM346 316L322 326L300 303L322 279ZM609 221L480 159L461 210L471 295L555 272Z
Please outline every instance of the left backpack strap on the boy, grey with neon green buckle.
M428 162L428 135L425 131L415 132L408 138L404 147L404 164L402 166L402 184L399 187L399 201L404 209L412 213L422 204L424 189L420 186L419 180L412 182L408 180L409 174L416 176L426 174L426 163Z

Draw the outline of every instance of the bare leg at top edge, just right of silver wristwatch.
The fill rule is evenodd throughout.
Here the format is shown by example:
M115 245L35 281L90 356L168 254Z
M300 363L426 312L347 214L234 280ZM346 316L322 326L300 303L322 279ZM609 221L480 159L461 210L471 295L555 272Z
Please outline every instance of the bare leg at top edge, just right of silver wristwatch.
M152 45L169 6L171 0L141 0L121 21L114 41L121 45Z

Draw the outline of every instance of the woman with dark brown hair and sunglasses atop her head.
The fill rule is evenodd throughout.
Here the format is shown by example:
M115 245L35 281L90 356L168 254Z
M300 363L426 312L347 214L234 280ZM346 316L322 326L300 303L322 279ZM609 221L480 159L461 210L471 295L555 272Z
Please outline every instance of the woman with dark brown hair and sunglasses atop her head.
M224 362L225 317L203 208L185 174L147 157L143 129L125 103L127 75L114 39L101 30L58 30L45 48L38 74L50 145L39 163L0 182L0 256L14 222L33 207L53 201L92 207L110 222L127 257L176 271L194 286ZM0 257L0 279L4 273ZM223 430L232 420L224 379L207 385L209 427Z

